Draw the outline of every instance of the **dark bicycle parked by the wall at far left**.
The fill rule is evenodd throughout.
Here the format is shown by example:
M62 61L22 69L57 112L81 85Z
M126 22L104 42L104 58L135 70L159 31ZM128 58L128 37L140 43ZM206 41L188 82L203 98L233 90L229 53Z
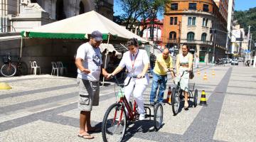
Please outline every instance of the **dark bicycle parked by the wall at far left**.
M4 65L1 66L1 75L4 77L13 77L14 75L27 75L28 67L25 62L21 62L21 58L17 61L11 60L10 53L3 57Z

